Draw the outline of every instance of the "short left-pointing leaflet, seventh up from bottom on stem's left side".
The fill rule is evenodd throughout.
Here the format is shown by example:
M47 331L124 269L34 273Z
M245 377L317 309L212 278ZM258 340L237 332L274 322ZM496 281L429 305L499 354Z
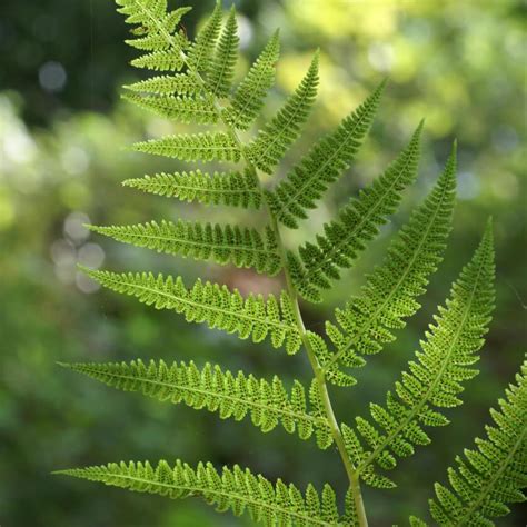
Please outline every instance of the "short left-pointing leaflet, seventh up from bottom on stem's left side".
M216 108L206 99L172 95L142 96L139 93L125 95L122 98L143 110L185 123L213 125L219 117Z

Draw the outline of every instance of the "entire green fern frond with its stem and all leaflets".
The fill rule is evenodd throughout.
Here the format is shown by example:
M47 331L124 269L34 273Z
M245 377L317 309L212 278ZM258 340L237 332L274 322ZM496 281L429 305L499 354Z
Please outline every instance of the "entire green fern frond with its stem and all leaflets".
M296 379L287 388L278 376L257 378L233 374L219 365L193 361L145 364L63 365L109 386L139 391L160 401L207 409L220 418L250 419L261 431L277 426L300 439L315 438L321 449L335 445L349 479L338 499L329 484L306 490L280 479L269 481L249 468L200 463L196 467L177 460L111 463L61 470L80 478L170 498L199 496L217 510L249 513L266 525L366 526L361 485L390 488L386 475L399 459L430 443L431 427L445 426L443 408L461 404L465 384L477 375L483 338L494 306L494 249L490 221L474 257L460 270L445 305L434 316L420 350L409 362L382 405L370 404L369 416L339 422L329 385L350 387L354 369L369 355L379 354L395 340L396 330L419 309L418 298L443 259L451 228L456 187L456 146L445 170L422 203L411 213L388 247L384 261L367 276L357 296L335 311L324 334L307 330L299 298L318 302L324 291L351 268L379 227L402 199L418 169L422 122L408 146L379 175L335 215L314 240L297 249L286 247L282 229L298 228L317 207L329 186L342 177L358 155L379 106L385 82L331 132L321 137L290 171L270 186L260 173L272 175L301 133L314 107L319 81L319 52L295 92L255 138L243 141L272 87L279 56L275 32L246 77L233 87L238 56L237 17L227 16L218 2L193 41L181 29L189 8L170 10L167 0L117 0L126 21L135 26L127 42L140 50L132 61L153 70L152 77L126 86L130 102L167 119L208 125L200 133L180 133L135 145L140 152L182 161L229 161L232 169L156 173L125 181L145 192L261 211L260 228L241 225L177 222L160 219L130 226L91 226L96 232L121 242L218 265L253 268L256 272L284 276L278 296L248 295L225 285L198 279L187 286L181 276L151 272L110 272L83 269L115 291L133 296L157 309L170 309L187 321L207 322L275 348L296 354L304 348L312 379ZM236 163L236 165L232 165ZM526 484L526 374L524 365L500 410L493 410L495 427L488 439L476 440L476 450L456 458L448 469L451 489L436 486L430 513L440 525L493 525L508 511L507 505L524 499ZM332 388L331 388L332 389ZM337 389L337 388L335 388ZM411 516L411 525L426 525Z

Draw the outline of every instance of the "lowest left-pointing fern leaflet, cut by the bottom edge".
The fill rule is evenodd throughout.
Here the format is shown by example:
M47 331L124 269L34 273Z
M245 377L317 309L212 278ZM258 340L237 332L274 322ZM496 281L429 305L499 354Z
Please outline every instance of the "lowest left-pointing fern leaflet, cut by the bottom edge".
M100 481L137 493L159 494L172 499L199 496L216 510L231 510L236 516L249 513L253 521L269 527L286 525L335 527L339 523L335 491L324 486L321 496L312 485L306 494L280 479L272 485L264 476L255 476L238 465L223 467L218 473L211 463L199 463L193 469L179 459L173 467L161 460L153 468L150 463L108 465L58 470L53 474Z

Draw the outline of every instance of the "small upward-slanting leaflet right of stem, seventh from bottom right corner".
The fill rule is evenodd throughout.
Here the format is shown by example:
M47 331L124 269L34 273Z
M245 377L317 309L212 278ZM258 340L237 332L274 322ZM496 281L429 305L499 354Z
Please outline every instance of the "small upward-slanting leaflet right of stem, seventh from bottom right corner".
M264 99L275 83L276 62L280 52L278 31L266 44L245 79L238 86L223 118L238 130L247 130L260 113Z

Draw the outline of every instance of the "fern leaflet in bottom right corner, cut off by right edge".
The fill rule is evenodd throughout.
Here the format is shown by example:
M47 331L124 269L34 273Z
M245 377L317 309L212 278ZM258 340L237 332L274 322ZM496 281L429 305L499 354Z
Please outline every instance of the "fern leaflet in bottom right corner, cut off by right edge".
M486 439L477 438L474 450L456 457L448 468L451 489L436 484L430 513L446 526L493 526L490 518L510 510L507 504L525 501L527 488L527 361L516 375L516 384L491 409L495 426L486 426Z

